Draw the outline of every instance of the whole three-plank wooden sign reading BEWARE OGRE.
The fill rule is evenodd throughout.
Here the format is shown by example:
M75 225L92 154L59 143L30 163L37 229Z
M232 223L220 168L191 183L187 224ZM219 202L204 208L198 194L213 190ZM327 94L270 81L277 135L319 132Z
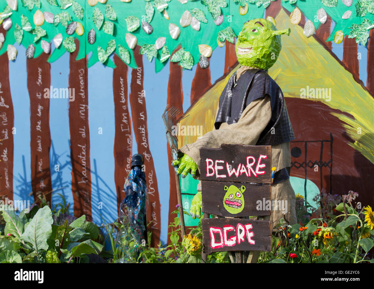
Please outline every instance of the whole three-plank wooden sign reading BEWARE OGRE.
M271 146L221 145L200 149L206 254L270 251L270 221L238 217L271 214L271 158ZM209 214L224 218L206 218ZM236 254L236 261L241 262L242 253Z

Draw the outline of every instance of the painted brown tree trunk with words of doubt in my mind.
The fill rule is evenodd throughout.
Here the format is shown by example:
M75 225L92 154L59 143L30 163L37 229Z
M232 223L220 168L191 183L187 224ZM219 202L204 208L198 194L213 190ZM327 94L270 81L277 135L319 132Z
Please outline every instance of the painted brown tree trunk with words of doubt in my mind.
M145 106L145 91L143 87L144 68L142 55L139 54L139 50L140 46L134 49L134 58L138 68L132 69L131 71L130 105L138 153L144 156L149 201L147 210L148 230L152 232L151 246L156 246L160 241L160 198L156 171L154 170L153 158L148 142L147 109Z

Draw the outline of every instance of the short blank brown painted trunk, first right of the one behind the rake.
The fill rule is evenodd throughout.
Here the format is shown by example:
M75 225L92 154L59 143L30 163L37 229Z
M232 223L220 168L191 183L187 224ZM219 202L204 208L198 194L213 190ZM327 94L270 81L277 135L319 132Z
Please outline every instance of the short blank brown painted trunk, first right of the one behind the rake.
M210 62L210 58L208 58L208 61ZM170 67L170 75L171 74L171 67ZM174 74L173 74L174 78ZM170 84L170 78L169 78L169 84ZM196 65L196 72L195 76L192 80L192 86L191 86L191 105L196 102L205 92L205 90L212 86L211 83L211 74L210 74L210 68L202 69L199 64ZM168 93L169 98L169 93Z

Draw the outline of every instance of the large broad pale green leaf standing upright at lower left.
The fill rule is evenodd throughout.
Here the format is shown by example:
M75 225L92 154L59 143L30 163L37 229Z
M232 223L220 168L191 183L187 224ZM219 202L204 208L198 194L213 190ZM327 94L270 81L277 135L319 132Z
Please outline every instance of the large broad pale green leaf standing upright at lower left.
M33 219L26 224L21 239L30 243L35 251L47 250L47 239L52 234L52 212L48 206L39 209Z

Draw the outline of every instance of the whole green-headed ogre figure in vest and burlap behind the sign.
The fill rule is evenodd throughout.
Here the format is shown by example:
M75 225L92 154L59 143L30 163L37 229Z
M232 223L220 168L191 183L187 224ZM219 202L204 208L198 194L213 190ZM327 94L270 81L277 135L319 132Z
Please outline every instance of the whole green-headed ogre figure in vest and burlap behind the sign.
M297 221L295 193L289 182L289 142L294 139L294 133L282 90L267 72L281 52L281 34L289 33L289 28L276 30L266 19L253 19L243 24L236 42L236 56L241 66L221 93L213 130L181 147L181 157L172 163L179 166L177 173L182 177L191 173L192 177L199 178L201 147L237 143L271 145L272 167L276 167L272 199L288 203L286 214L272 211L270 221L274 226L281 218L290 224ZM190 213L193 218L201 216L201 192L191 202Z

